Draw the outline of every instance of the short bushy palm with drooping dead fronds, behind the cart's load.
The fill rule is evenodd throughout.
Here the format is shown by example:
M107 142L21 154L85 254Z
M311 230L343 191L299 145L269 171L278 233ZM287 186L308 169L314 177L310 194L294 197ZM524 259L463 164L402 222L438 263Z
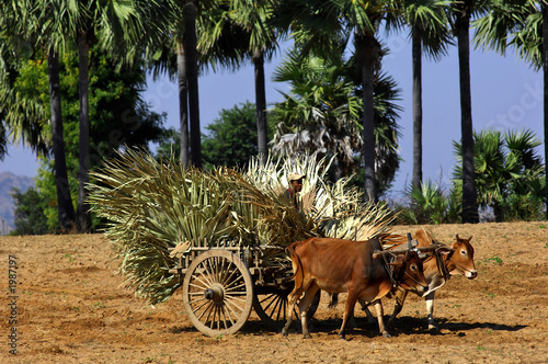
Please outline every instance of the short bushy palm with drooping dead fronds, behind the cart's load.
M294 49L276 69L274 80L289 82L290 92L276 103L272 116L279 122L273 151L302 155L315 151L333 157L333 178L350 177L361 168L363 98L355 59L345 60L343 49L332 48L329 58L302 58ZM357 86L356 86L357 84ZM399 90L386 75L375 84L375 170L378 191L389 187L399 166ZM359 179L356 179L356 181Z

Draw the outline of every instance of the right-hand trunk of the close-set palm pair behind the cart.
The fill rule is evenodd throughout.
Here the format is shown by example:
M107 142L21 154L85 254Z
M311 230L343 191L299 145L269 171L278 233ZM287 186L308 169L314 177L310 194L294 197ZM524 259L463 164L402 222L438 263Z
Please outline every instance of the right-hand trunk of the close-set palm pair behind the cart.
M191 160L196 168L202 167L202 143L199 130L198 56L196 50L196 4L186 0L183 8L186 80L189 84L189 116L191 124Z

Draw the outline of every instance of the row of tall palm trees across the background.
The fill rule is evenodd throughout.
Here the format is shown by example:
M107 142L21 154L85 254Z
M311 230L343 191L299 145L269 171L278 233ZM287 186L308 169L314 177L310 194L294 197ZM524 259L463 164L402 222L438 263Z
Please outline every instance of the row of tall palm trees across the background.
M168 72L176 79L179 156L184 166L196 168L203 167L201 69L236 69L251 62L255 78L255 153L262 159L270 152L290 156L304 150L336 155L333 178L357 172L367 198L377 201L399 163L398 90L383 72L383 56L389 49L380 43L379 33L406 32L412 43L413 64L412 186L421 190L424 184L421 59L424 54L438 59L449 46L457 46L461 109L459 214L463 223L477 223L482 202L478 197L477 140L471 117L470 46L500 53L514 48L521 58L541 69L547 110L548 50L543 42L548 36L547 16L544 0L4 1L0 4L0 153L5 153L11 139L49 158L60 228L87 231L92 224L85 198L89 170L95 166L91 156L111 155L90 148L101 143L111 150L132 145L146 147L145 140L129 140L118 128L111 132L118 130L123 144L105 141L109 137L101 133L95 139L91 137L95 124L105 123L90 109L90 94L100 90L93 84L98 59L109 58L107 68L119 75L135 69L141 71L140 77L149 70L153 75ZM273 77L288 81L292 91L267 113L264 62L272 59L285 39L292 39L294 48ZM70 73L78 82L70 91L64 90L70 79L66 75L67 58L78 64L72 65L77 70ZM32 70L30 65L47 67L47 77L25 88L21 80L27 77L25 71ZM105 79L110 77L114 76ZM46 86L46 79L47 89L37 90ZM68 106L67 92L72 92L78 105ZM134 113L136 120L152 123L140 125L152 126L155 120L161 120L142 103L128 105L125 116L116 117L127 120L128 113ZM67 109L78 114L78 137L72 134L78 150L70 152L65 140ZM109 109L100 110L109 113ZM547 115L545 112L545 141ZM124 127L122 130L133 133ZM149 134L150 139L160 139L160 134ZM69 155L78 156L76 166L67 166ZM68 168L78 175L72 187ZM546 206L546 163L540 177L545 179L541 191ZM78 196L76 208L73 194ZM548 209L546 213L548 216Z

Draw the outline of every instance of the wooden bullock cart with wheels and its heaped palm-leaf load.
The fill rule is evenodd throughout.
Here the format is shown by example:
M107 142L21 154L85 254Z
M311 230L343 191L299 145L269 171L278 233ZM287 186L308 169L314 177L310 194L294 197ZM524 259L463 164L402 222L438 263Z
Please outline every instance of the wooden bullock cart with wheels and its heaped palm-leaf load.
M128 149L90 173L89 203L136 297L159 305L182 292L187 316L208 335L237 332L253 308L281 329L294 288L288 244L365 240L393 218L385 205L364 204L350 179L326 182L329 164L302 156L201 170ZM284 193L295 170L306 174L301 209Z

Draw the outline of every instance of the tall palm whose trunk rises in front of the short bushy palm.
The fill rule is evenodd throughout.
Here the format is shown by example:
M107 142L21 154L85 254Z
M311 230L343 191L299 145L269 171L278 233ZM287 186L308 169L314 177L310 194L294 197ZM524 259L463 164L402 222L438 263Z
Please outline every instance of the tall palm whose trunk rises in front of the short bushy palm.
M292 30L304 53L315 48L319 55L328 54L334 43L353 34L354 52L361 70L363 92L363 161L364 187L368 201L377 200L375 179L375 111L374 84L380 69L381 45L377 39L380 23L393 21L398 1L347 0L289 0L278 3L278 22ZM288 15L285 15L288 14Z

